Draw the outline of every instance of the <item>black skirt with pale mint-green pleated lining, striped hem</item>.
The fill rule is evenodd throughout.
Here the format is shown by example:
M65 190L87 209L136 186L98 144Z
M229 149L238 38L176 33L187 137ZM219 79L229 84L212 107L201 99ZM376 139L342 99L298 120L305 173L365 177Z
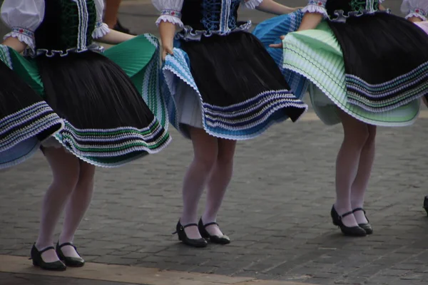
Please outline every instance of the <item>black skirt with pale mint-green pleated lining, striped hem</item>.
M370 16L369 21L384 16L391 15ZM357 18L355 20L366 21L366 16ZM424 60L428 59L427 51L424 51L424 56L418 59L420 53L408 53L412 51L408 45L404 45L407 52L403 51L403 47L394 46L393 43L389 44L388 49L385 48L388 45L384 41L392 41L390 38L379 37L376 41L360 35L357 38L360 45L373 48L372 53L377 55L380 62L385 62L383 66L379 66L382 63L374 61L373 55L368 56L367 52L359 53L360 46L355 45L352 50L350 43L345 45L346 40L343 38L338 41L337 34L331 28L337 24L340 25L338 29L349 28L348 26L344 28L349 23L329 24L323 21L316 29L289 33L283 41L284 67L300 73L311 81L310 96L317 115L327 125L340 123L336 112L337 106L357 120L371 125L404 126L414 123L419 113L419 98L428 93L428 73L425 71L428 62ZM406 27L407 25L404 25L402 31L406 31ZM354 30L351 28L351 31ZM389 34L394 31L382 33ZM394 63L400 57L407 57L406 66L399 65L402 61ZM367 61L367 58L370 60ZM413 69L408 66L411 63ZM385 71L392 68L393 71ZM401 69L397 71L397 68ZM364 76L358 77L352 73L364 73ZM373 84L372 81L367 83L362 79L367 76L379 83Z

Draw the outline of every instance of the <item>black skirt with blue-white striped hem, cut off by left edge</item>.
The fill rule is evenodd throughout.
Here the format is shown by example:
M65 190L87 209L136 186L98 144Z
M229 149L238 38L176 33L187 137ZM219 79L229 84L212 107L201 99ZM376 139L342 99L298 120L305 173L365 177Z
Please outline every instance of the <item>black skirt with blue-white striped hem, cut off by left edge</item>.
M13 68L9 48L0 46L0 169L24 162L63 120Z

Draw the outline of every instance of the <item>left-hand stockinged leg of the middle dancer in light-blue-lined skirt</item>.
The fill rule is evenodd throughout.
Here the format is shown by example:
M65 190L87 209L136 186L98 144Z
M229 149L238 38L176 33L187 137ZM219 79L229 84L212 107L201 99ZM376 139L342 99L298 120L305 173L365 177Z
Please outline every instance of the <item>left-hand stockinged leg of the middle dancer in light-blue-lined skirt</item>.
M189 128L194 157L183 181L183 214L180 218L183 225L198 222L200 196L208 182L218 155L217 138L208 135L203 129ZM185 233L189 239L201 238L198 227L186 227Z

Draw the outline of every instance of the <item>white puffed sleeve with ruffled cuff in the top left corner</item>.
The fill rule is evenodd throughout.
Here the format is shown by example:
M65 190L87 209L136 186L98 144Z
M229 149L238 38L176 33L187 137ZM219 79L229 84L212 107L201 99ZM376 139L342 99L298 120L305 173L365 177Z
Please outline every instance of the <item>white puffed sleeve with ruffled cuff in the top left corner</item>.
M18 38L34 51L34 31L44 19L44 0L4 0L1 5L1 19L11 32L4 36Z

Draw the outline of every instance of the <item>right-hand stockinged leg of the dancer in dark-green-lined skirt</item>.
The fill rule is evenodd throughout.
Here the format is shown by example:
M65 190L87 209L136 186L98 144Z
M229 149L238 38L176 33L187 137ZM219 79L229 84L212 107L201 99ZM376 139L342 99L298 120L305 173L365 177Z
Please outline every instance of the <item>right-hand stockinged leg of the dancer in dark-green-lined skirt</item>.
M83 219L89 204L91 204L94 176L95 166L80 160L78 182L66 205L66 215L64 217L63 231L59 237L59 244L73 242L78 225ZM61 251L66 257L79 257L76 250L71 246L62 247Z

